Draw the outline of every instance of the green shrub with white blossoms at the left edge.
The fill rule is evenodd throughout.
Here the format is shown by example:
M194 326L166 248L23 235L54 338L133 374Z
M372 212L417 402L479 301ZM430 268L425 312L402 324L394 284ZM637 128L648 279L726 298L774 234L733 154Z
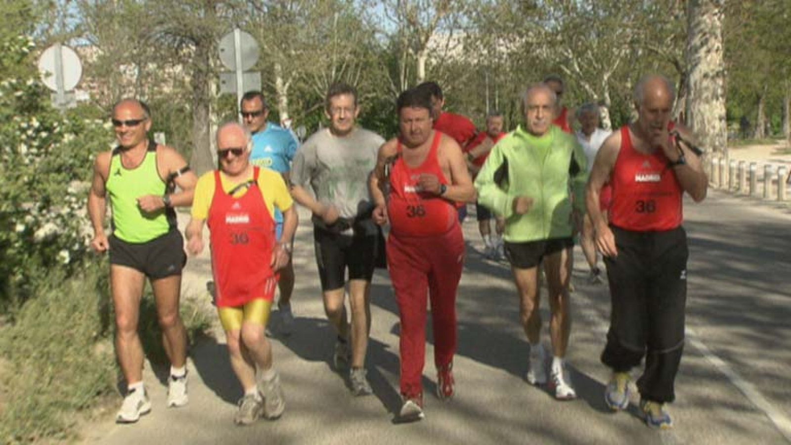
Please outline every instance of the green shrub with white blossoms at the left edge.
M26 298L33 277L81 266L90 224L93 158L107 149L101 121L51 107L32 70L32 40L0 42L0 304ZM20 70L20 66L30 70ZM7 76L13 72L12 76Z

